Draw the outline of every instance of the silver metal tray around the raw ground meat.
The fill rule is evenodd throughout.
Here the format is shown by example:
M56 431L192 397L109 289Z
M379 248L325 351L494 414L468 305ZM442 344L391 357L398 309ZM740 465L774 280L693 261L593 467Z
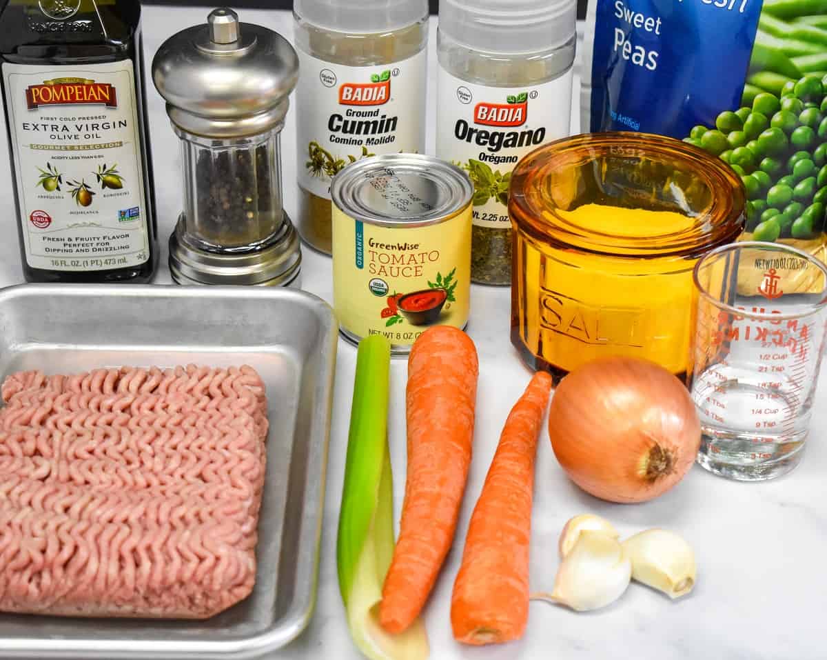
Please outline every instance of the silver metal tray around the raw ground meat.
M318 579L337 323L287 289L22 285L0 290L0 377L100 366L249 364L270 435L252 595L203 621L0 614L0 658L251 660L297 637Z

